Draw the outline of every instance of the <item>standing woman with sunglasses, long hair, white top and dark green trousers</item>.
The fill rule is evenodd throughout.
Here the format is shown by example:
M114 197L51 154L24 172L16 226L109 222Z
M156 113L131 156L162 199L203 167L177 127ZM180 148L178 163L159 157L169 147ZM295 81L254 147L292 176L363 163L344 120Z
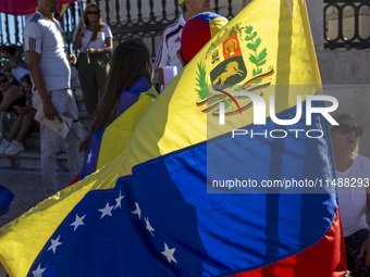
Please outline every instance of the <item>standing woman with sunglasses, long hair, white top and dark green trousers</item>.
M86 27L85 27L86 26ZM96 3L86 5L84 21L74 34L73 50L78 50L78 78L84 101L89 114L94 114L106 89L113 49L113 36L101 21L101 11Z

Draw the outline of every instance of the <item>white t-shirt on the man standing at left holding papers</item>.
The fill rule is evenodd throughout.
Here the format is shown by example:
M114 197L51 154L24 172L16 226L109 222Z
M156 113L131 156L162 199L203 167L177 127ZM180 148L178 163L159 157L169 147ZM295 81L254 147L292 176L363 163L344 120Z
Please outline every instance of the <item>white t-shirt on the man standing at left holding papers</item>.
M41 55L40 70L47 90L70 88L71 70L64 51L63 29L57 20L34 13L24 27L25 51Z

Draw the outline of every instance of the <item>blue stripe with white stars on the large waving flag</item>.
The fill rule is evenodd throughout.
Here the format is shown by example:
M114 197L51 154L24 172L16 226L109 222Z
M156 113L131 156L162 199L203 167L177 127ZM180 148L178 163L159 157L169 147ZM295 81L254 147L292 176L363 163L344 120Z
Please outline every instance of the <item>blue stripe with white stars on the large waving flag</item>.
M336 214L331 188L207 192L210 178L235 178L240 172L259 181L332 178L326 124L318 115L312 126L303 121L294 127L322 129L324 137L288 136L274 143L234 141L229 134L135 166L114 189L90 191L55 230L28 276L37 268L45 269L42 276L226 276L311 247ZM254 129L274 127L269 122ZM281 162L267 162L271 159Z

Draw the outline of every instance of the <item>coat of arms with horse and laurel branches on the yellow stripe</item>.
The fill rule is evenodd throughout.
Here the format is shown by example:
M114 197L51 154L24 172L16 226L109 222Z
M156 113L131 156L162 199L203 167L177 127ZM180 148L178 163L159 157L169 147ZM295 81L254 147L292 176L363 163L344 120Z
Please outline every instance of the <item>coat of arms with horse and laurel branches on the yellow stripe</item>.
M261 97L263 88L271 84L274 71L263 65L268 62L268 50L262 48L262 39L252 26L243 26L242 23L224 27L215 41L208 48L205 60L211 59L211 67L206 68L203 60L198 63L197 105L201 112L212 111L219 116L219 103L226 102L225 115L242 113L252 106L248 97L233 97L233 91L248 90ZM249 54L248 59L245 59ZM209 74L209 76L208 76ZM210 78L211 86L208 86Z

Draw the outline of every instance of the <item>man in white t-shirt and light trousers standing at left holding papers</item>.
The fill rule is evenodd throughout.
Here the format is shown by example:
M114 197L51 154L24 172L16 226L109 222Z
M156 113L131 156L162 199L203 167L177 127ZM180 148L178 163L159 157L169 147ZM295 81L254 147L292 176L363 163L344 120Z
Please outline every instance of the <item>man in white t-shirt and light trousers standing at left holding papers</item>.
M64 52L63 29L54 18L58 1L38 0L37 4L38 11L29 16L23 30L29 72L36 88L33 105L35 109L42 109L50 121L60 119L60 115L73 121L65 139L40 124L42 184L45 197L50 197L59 191L57 152L60 150L60 141L65 142L71 175L74 178L84 162L79 143L86 133L78 122L78 110L70 89L71 68Z

